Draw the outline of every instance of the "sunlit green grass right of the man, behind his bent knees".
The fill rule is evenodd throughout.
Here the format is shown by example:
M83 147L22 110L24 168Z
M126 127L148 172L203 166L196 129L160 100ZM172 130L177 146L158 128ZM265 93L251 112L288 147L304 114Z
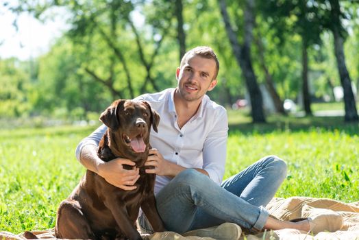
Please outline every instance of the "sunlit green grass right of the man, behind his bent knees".
M230 134L225 178L266 155L288 164L288 177L277 197L328 197L344 202L359 199L359 137L344 132L271 132Z

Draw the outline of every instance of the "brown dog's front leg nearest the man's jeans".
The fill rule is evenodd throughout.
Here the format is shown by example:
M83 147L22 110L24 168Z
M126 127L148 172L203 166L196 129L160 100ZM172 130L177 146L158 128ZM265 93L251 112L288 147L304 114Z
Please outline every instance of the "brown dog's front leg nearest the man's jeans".
M164 228L162 219L158 214L156 208L156 198L153 193L149 195L145 200L143 200L141 208L155 232L164 232L166 230Z

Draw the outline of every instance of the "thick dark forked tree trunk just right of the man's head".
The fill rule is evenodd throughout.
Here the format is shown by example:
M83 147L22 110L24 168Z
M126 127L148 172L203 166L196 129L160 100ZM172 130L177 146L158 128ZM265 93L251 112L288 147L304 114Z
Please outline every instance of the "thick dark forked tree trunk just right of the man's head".
M251 39L252 39L252 30L254 25L254 16L253 16L253 1L246 1L245 8L245 43L243 46L240 46L237 40L237 36L232 28L230 23L230 16L227 12L227 5L225 0L219 0L219 5L221 8L221 14L223 21L225 23L225 30L227 32L228 38L232 45L234 56L242 69L242 73L245 77L245 82L249 92L249 97L251 101L251 117L254 123L264 123L264 111L262 106L262 94L260 93L260 88L257 83L256 75L254 74L253 67L251 64Z

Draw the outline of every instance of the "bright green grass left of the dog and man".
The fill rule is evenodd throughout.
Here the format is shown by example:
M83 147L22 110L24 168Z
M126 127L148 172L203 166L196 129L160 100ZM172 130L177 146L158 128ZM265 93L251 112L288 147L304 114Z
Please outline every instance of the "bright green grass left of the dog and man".
M84 168L75 147L92 128L1 130L0 230L47 229Z

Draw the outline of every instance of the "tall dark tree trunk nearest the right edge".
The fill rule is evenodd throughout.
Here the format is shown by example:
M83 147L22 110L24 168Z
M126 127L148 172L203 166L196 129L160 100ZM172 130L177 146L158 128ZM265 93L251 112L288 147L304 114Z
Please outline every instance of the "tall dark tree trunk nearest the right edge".
M336 56L336 64L338 65L339 76L341 77L341 85L344 92L344 104L345 104L345 121L358 121L358 112L356 110L356 101L354 93L351 88L351 80L345 64L344 54L344 38L340 33L341 21L340 6L338 0L330 0L332 6L331 13L334 24L332 25L332 32L334 35L334 52Z

